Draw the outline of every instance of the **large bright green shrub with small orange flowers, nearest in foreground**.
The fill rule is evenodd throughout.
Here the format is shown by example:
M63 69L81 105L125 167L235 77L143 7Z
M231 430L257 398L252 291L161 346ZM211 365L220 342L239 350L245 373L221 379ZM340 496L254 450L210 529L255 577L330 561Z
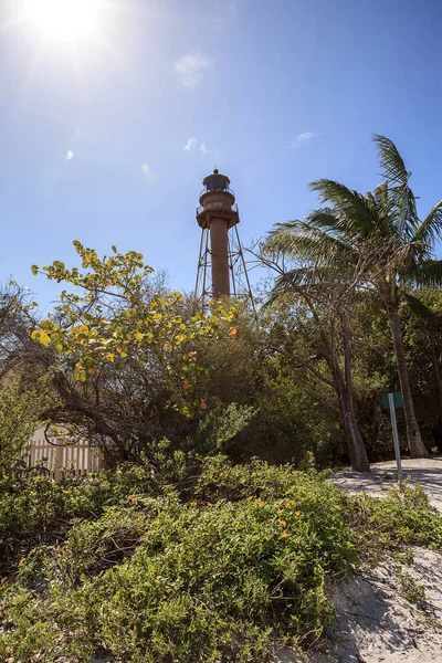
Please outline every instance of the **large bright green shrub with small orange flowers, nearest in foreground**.
M272 639L317 638L334 617L325 578L355 559L338 497L311 477L309 494L299 487L291 502L134 495L94 523L77 520L52 562L40 562L48 594L29 601L28 619L20 604L3 652L28 660L36 641L24 651L20 633L39 622L43 633L46 621L55 634L39 640L48 662L60 639L71 656L106 651L166 663L265 660ZM34 559L21 564L21 585L29 578L35 582ZM15 614L8 591L6 613Z

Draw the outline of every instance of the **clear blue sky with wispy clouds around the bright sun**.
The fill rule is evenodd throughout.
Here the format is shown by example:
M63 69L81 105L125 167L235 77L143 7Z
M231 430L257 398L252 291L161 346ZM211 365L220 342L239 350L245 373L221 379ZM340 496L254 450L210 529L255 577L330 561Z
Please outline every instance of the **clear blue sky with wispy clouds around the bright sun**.
M191 291L214 166L244 244L314 208L316 178L376 186L372 133L422 213L442 197L439 0L88 0L99 21L75 43L29 1L0 1L0 280L42 305L56 290L30 265L73 264L74 239L141 251Z

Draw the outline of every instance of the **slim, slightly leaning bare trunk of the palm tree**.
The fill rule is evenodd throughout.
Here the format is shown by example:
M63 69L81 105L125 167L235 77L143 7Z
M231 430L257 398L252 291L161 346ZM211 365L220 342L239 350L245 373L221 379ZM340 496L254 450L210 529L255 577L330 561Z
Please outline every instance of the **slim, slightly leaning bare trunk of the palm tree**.
M406 361L406 350L403 347L402 325L399 319L398 305L392 303L388 306L388 316L390 318L391 334L393 337L396 360L398 364L399 382L402 392L403 414L406 417L407 440L411 459L428 457L427 449L422 442L421 433L414 415L414 406L411 398L410 377Z

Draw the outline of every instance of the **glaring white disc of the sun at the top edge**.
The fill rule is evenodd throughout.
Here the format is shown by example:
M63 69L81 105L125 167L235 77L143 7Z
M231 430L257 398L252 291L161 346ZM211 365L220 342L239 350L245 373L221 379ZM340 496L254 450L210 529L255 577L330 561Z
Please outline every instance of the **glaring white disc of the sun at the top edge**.
M29 0L27 18L44 38L77 41L98 28L99 0Z

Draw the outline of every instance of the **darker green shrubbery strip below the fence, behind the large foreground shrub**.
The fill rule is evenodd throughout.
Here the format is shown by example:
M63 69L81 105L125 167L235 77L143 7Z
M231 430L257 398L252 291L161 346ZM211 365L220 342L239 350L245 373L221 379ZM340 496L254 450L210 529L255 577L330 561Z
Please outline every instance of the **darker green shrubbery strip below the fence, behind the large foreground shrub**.
M128 495L161 495L171 485L185 496L192 494L200 471L201 459L194 453L169 451L162 441L152 460L125 463L97 475L66 472L57 483L38 472L25 478L10 476L0 486L0 573L9 572L33 546L63 540L74 518L95 520L106 506Z

